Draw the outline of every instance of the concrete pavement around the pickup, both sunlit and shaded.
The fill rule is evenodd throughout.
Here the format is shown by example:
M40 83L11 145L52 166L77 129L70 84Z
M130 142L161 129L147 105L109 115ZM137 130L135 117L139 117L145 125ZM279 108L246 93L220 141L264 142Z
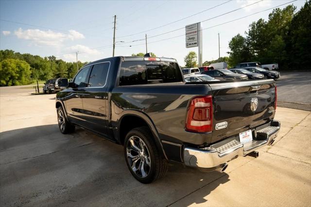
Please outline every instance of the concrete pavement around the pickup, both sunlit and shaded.
M278 100L288 92L282 78ZM163 179L143 185L121 146L79 128L61 134L55 94L32 90L0 88L0 206L311 206L310 111L278 107L273 146L232 160L225 173L173 164Z

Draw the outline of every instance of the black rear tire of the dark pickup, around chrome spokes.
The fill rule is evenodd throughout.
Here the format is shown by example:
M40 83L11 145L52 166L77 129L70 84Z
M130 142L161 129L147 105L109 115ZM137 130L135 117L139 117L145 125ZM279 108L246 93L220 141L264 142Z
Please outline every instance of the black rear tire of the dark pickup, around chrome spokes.
M140 151L140 154L139 154L139 152L136 150L136 148L131 147L131 146L133 146L131 144L131 141L134 140L133 138L141 139L143 141L143 144L144 144L142 149L147 148L147 151L145 151L145 152ZM139 140L139 139L137 139L137 140ZM134 142L135 142L135 140L134 140ZM138 143L138 142L136 142L136 143ZM141 148L140 142L139 142L138 146ZM168 169L167 168L167 161L158 152L158 150L155 146L154 137L153 137L153 135L150 132L148 127L138 127L138 128L132 129L129 133L127 133L125 140L124 140L123 150L124 150L126 165L127 165L128 169L130 170L130 172L132 173L132 175L139 182L144 183L144 184L152 183L155 180L163 177L165 175L165 173L167 172L167 169ZM135 152L138 152L138 155L136 155L138 158L135 160L134 160L134 158L133 159L130 158L128 156L129 152L130 152L131 156L133 156L133 153L135 155ZM139 158L141 153L146 155L145 158L142 158L142 159ZM148 154L149 154L149 158L148 158ZM149 161L147 161L148 159L149 159ZM148 165L148 162L150 164L150 167ZM140 170L140 173L138 172L138 169L140 168L139 166L141 166L141 163L142 163L141 169L144 169L143 171L145 172L145 174L147 174L146 176L143 176L143 173L141 173L141 170ZM136 172L133 171L131 166L134 166L134 168L137 169ZM138 168L137 168L137 166L138 166Z

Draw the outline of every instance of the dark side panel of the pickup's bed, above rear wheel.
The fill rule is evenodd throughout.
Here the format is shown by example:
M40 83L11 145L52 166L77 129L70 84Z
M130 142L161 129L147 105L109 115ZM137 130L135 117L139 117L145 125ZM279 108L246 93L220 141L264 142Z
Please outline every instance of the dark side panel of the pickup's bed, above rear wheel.
M152 120L161 140L175 143L208 143L209 134L185 131L189 100L211 94L208 85L158 84L117 86L111 92L111 123L117 123L126 110L137 110Z

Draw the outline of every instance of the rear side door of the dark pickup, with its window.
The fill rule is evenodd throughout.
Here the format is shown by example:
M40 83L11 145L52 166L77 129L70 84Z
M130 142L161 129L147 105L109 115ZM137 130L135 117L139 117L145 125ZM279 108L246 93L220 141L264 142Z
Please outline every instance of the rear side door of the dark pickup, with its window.
M110 62L94 64L91 68L88 86L83 95L84 124L86 128L107 135L108 72Z

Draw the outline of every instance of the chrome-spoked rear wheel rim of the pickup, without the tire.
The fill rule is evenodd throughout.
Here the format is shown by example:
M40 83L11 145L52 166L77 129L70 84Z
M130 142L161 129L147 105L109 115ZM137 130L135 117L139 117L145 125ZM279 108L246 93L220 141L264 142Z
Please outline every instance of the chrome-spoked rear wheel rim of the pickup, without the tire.
M147 177L151 160L145 142L137 136L130 137L126 145L126 154L132 171L139 177Z

